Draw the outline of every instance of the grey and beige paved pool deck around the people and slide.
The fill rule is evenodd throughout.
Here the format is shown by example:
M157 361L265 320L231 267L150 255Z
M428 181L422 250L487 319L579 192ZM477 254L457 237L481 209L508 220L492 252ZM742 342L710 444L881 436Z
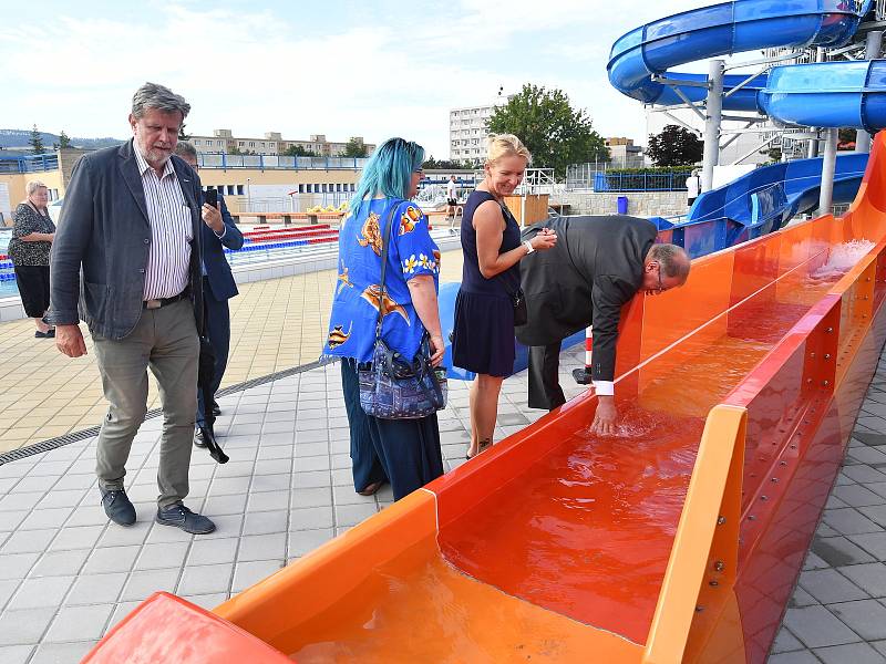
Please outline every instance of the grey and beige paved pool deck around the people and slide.
M461 253L445 253L444 280L457 280L460 270ZM231 301L237 341L226 383L255 382L219 398L217 430L231 459L219 466L195 450L186 501L213 517L216 532L195 537L152 521L158 417L142 426L127 464L138 513L131 528L109 523L101 509L92 436L0 465L0 662L76 662L156 590L215 606L390 505L390 487L362 497L351 485L338 365L282 371L317 359L333 282L330 270L250 283ZM66 430L94 426L104 406L92 355L61 357L51 342L33 339L30 325L0 325L0 398L7 400L0 413L18 402L20 418L56 415L6 430L29 430L20 442L43 440L62 426L58 417L74 412ZM583 391L569 376L583 354L562 355L567 396ZM30 386L18 384L29 380ZM44 383L50 388L37 392ZM525 372L505 381L497 439L543 415L527 408L526 388ZM40 396L31 406L32 394ZM440 424L450 470L464 463L468 438L465 384L451 383ZM882 357L770 662L885 663Z

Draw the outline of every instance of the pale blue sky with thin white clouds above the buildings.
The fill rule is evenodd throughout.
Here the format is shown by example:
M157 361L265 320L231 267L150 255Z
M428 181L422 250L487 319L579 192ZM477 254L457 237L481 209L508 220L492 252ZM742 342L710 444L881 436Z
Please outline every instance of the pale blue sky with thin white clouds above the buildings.
M162 83L186 132L403 136L449 157L449 111L534 83L604 136L646 143L606 76L625 32L707 0L178 0L0 3L0 128L126 137L132 94ZM703 65L699 71L705 71Z

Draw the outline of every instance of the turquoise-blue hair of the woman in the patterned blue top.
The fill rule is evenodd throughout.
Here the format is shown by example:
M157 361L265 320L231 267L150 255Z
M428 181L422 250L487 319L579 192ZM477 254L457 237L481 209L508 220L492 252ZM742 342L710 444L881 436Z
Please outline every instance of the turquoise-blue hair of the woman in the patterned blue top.
M404 138L389 138L382 143L363 167L357 184L350 209L353 216L360 214L363 198L374 198L383 194L385 198L405 198L412 174L424 163L424 148Z

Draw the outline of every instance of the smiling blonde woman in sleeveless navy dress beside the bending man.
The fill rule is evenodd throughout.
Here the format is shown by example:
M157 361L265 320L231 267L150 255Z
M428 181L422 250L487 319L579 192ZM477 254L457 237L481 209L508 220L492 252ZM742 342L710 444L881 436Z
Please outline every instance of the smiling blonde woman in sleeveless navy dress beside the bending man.
M455 300L452 362L477 374L471 385L467 458L492 445L502 381L514 369L514 305L519 260L549 249L557 236L544 229L521 243L519 225L504 197L523 181L532 155L519 138L488 139L486 177L467 198L462 216L462 286Z

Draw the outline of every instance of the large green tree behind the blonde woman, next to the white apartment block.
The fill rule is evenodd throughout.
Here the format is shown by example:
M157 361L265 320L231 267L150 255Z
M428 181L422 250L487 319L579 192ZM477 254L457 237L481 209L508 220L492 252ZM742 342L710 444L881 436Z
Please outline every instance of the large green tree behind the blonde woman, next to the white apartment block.
M602 137L591 128L584 108L574 110L562 90L525 84L523 90L497 106L490 117L492 134L515 134L533 154L533 166L554 168L566 175L570 164L608 162Z

